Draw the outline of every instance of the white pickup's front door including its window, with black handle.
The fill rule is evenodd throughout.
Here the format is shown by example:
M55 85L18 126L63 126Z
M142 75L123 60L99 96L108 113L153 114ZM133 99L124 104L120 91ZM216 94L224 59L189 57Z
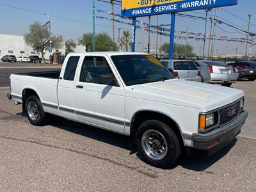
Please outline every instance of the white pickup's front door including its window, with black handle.
M124 87L102 81L113 77L109 58L85 56L74 89L77 120L97 127L124 132ZM112 79L111 79L112 80Z

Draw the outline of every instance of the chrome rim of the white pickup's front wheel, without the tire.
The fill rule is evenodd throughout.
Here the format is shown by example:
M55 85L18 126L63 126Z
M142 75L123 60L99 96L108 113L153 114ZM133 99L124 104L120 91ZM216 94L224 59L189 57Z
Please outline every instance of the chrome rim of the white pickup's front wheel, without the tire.
M142 148L150 159L161 160L168 151L167 142L161 132L150 129L141 138Z

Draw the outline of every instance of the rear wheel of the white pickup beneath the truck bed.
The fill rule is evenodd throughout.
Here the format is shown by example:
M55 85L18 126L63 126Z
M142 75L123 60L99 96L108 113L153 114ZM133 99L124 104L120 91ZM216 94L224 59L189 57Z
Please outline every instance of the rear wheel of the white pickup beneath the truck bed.
M31 113L29 112L31 108L31 104L35 104L36 106L37 115L33 116L34 118L31 116ZM26 102L26 114L28 116L29 122L32 125L45 124L46 115L45 115L44 109L42 107L40 100L34 95L30 96Z

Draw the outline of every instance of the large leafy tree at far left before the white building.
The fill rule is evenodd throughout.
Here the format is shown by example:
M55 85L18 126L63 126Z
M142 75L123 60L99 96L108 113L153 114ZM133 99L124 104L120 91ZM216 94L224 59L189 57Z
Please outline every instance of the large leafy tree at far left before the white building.
M44 51L50 51L50 47L55 49L60 48L62 37L59 35L51 35L46 27L36 21L29 26L29 31L24 35L24 40L26 44L30 45L36 52L42 54L42 58L45 62Z

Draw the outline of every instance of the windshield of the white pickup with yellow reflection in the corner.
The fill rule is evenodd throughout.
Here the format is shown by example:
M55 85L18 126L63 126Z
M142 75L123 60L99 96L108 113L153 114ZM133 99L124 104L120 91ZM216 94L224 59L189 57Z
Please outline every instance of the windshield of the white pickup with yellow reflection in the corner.
M116 55L111 59L127 86L175 78L151 55Z

